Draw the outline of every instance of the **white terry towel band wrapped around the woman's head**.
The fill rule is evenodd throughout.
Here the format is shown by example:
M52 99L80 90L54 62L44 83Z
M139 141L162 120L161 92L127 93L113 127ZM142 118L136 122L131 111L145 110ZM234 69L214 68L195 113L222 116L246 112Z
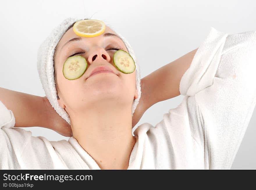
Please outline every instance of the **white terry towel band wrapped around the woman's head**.
M45 95L49 100L51 106L54 110L70 124L70 117L65 111L65 109L61 108L57 100L57 91L54 81L54 65L53 65L53 55L56 45L58 44L61 37L64 35L64 32L67 30L72 23L82 20L84 18L77 18L77 17L69 17L61 22L59 26L52 30L51 34L43 41L38 49L38 60L37 60L37 70L39 73L39 77L45 91ZM111 27L113 30L113 28ZM134 100L132 104L132 115L139 103L139 99L141 97L141 77L140 77L140 68L137 64L136 57L134 52L122 35L115 32L125 43L127 47L128 53L134 59L135 62L135 70L136 70L136 88L138 90L138 98Z

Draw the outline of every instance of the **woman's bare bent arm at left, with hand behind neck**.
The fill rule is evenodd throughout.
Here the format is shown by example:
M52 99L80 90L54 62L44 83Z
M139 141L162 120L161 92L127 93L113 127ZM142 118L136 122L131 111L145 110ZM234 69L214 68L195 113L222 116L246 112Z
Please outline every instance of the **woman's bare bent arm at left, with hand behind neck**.
M0 88L0 101L13 112L14 127L39 126L70 136L69 124L51 109L45 99L46 97Z

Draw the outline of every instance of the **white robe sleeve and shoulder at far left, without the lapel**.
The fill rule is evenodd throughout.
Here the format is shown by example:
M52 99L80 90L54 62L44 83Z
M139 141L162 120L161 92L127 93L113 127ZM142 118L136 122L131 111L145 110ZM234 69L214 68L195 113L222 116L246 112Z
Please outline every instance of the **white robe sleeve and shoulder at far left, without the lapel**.
M13 112L0 101L0 169L60 168L50 141L14 125Z

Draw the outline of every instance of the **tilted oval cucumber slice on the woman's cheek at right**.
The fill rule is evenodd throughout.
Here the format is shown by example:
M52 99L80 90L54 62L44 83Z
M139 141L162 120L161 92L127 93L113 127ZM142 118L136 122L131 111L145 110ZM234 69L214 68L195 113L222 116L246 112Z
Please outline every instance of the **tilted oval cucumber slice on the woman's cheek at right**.
M125 74L133 73L136 67L131 55L124 50L118 50L114 53L113 62L115 67Z

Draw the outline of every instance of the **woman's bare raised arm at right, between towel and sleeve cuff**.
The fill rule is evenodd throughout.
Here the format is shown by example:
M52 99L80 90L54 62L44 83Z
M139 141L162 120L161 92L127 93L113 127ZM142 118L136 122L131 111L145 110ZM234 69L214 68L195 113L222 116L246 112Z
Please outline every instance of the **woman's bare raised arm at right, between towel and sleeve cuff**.
M141 79L140 102L143 102L145 111L157 102L180 95L179 83L181 77L190 67L197 49L162 66Z

